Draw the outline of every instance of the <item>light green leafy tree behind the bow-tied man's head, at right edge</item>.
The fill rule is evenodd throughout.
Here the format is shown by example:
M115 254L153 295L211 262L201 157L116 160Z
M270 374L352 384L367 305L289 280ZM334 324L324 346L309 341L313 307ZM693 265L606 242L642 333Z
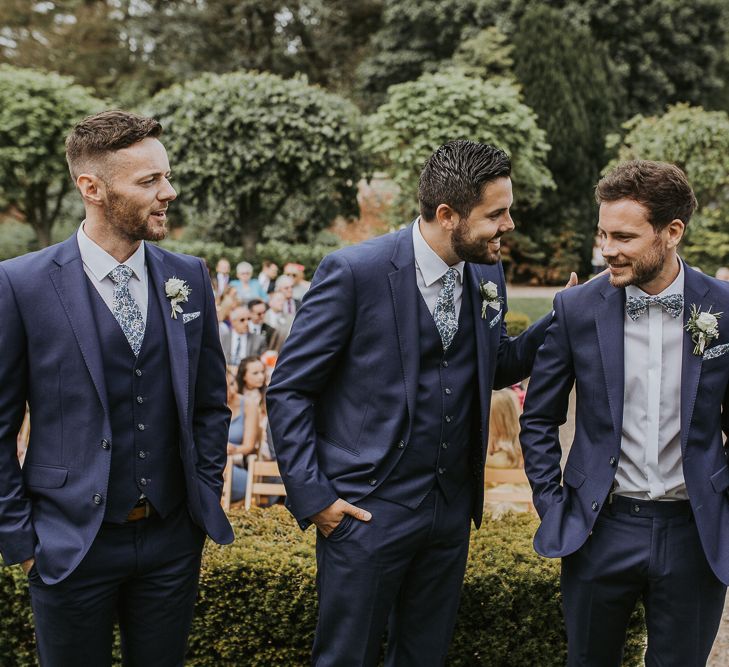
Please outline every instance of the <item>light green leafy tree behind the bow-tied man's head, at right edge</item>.
M618 157L661 160L681 167L699 201L691 218L682 256L712 273L729 257L729 115L678 104L663 116L636 116L624 126Z

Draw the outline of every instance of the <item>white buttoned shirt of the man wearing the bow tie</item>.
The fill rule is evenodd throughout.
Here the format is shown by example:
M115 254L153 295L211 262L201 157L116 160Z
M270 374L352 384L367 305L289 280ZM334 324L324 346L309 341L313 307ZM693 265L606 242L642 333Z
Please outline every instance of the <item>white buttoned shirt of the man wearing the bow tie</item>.
M683 294L676 279L659 295ZM625 296L649 296L635 285ZM685 500L681 459L681 361L683 317L660 304L633 321L625 317L625 394L621 456L613 491L643 500Z

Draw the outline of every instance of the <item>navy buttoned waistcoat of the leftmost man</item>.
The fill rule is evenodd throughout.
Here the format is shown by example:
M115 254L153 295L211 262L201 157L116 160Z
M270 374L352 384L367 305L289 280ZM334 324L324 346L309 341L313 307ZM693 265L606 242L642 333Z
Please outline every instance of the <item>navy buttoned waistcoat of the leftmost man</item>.
M111 468L104 520L122 523L144 494L163 517L185 497L179 422L157 290L149 290L144 341L135 357L96 288L88 282L101 345L111 419Z

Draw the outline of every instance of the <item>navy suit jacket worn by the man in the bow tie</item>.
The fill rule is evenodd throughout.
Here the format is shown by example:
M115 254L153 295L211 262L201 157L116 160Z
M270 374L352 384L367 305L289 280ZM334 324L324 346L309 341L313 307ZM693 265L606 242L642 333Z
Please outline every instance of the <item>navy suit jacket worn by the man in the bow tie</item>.
M719 338L729 343L729 283L684 264L684 324L691 305L724 312ZM521 419L524 464L542 524L537 552L560 557L584 544L615 479L620 458L624 395L625 290L607 276L560 292L554 319L537 353ZM729 353L693 354L684 333L681 366L681 453L691 507L706 557L729 583L729 468L722 430L729 433ZM729 346L718 351L728 351ZM705 352L706 354L706 352ZM560 470L558 427L576 384L575 438Z

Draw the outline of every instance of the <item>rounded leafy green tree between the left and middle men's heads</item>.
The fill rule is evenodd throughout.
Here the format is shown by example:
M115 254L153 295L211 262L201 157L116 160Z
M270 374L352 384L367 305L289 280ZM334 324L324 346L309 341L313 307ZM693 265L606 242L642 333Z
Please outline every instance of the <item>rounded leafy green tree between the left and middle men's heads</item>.
M360 119L341 97L237 72L175 85L150 109L165 127L182 198L218 240L253 255L269 224L293 222L289 240L306 241L358 210Z

